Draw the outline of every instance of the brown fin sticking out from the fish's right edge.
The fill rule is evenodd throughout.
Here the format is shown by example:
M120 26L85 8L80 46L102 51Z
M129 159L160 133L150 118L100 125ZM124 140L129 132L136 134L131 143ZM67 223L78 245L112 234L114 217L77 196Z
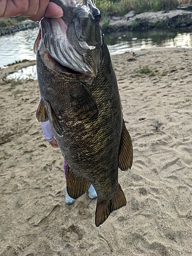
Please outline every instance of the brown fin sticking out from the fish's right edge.
M126 130L124 120L122 124L121 142L119 147L119 168L131 169L133 163L133 145L129 132Z

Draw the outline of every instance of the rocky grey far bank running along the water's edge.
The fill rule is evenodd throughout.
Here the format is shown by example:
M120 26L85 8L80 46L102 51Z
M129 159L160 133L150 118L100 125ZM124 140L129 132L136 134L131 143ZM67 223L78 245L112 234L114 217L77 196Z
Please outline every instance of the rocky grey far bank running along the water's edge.
M109 16L101 22L102 30L106 32L120 32L132 30L172 29L189 27L192 25L192 12L185 9L170 11L144 12L135 14L131 11L122 17ZM0 27L0 36L38 27L38 24L26 20L9 27Z

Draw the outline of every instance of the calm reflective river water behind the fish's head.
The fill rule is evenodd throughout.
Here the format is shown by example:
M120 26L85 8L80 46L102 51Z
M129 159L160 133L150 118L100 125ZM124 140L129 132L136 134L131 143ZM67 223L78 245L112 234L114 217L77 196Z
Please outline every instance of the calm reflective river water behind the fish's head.
M37 33L35 28L1 36L0 68L23 59L35 60L33 45ZM105 40L111 55L151 47L191 48L192 28L110 33L105 34Z

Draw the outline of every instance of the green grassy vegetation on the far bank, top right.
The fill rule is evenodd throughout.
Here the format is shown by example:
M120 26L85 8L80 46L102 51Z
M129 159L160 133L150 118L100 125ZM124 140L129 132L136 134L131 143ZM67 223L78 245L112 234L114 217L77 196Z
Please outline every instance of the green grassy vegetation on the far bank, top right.
M191 0L94 0L104 16L123 16L129 11L136 13L175 9L181 5L190 5Z

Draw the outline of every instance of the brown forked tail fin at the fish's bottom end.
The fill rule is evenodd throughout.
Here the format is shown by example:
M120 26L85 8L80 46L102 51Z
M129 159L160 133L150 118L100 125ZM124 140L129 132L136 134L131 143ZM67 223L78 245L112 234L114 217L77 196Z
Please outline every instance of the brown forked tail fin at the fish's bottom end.
M117 194L108 201L97 200L97 207L95 212L95 225L100 226L108 217L111 212L121 208L126 205L126 198L124 196L123 190L119 185Z

